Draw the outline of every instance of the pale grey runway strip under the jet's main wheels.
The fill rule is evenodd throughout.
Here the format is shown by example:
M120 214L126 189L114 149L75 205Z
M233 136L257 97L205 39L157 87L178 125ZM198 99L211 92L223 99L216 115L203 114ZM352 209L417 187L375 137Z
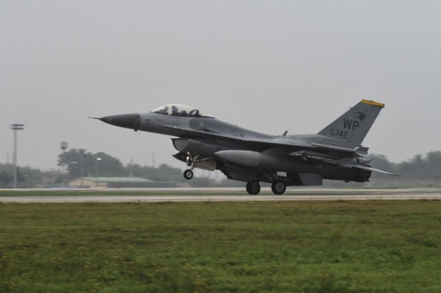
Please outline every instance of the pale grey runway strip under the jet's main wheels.
M23 191L21 189L20 191ZM84 191L72 191L72 195L0 196L0 202L54 203L54 202L249 202L249 201L311 201L311 200L369 200L369 199L441 199L441 189L333 189L292 188L284 195L273 195L270 188L262 188L260 195L245 195L243 188L149 188L132 190L100 190L102 195L81 195ZM41 191L41 190L39 190ZM91 190L88 190L91 191ZM110 195L119 191L125 195ZM148 195L130 195L145 191ZM87 191L86 191L87 192ZM175 193L161 195L161 193ZM155 194L158 193L158 194ZM179 193L184 193L180 195ZM194 193L194 195L189 195Z

